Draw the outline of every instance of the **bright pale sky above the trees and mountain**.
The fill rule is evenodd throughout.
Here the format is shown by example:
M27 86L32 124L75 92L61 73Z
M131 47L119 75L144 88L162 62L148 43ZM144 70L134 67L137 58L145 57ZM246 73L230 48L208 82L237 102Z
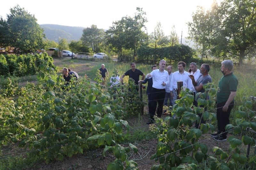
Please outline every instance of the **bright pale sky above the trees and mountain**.
M40 3L39 3L40 2ZM38 24L57 24L68 26L108 29L114 21L125 16L134 16L136 7L143 8L148 22L145 23L148 34L154 31L160 22L165 35L170 35L175 25L178 36L188 36L187 23L198 5L205 9L211 7L213 0L10 0L1 3L0 16L6 19L10 8L17 4L35 15ZM145 31L146 32L146 31Z

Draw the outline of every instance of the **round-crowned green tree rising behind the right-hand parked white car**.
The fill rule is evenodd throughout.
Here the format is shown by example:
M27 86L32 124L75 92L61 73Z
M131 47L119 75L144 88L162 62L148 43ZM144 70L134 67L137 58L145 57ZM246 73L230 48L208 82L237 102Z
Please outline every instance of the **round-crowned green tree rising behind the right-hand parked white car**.
M86 46L91 46L94 53L100 52L100 46L104 43L105 32L103 29L97 28L97 25L92 25L83 30L81 40Z

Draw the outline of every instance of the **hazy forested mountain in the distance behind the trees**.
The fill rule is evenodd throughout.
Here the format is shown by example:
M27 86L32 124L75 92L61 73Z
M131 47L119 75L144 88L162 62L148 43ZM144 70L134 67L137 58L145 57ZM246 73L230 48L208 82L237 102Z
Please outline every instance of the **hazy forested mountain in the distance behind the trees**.
M82 37L84 30L84 27L55 24L42 24L40 27L44 29L46 38L55 42L58 42L59 38L65 38L68 41L77 41Z

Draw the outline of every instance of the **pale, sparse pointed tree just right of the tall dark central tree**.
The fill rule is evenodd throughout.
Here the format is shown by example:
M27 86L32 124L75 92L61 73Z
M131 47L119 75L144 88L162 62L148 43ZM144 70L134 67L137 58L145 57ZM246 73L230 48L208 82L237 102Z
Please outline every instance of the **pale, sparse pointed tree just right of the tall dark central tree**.
M163 44L167 45L170 43L169 37L164 35L164 31L160 22L156 24L154 32L151 33L151 39L158 46Z

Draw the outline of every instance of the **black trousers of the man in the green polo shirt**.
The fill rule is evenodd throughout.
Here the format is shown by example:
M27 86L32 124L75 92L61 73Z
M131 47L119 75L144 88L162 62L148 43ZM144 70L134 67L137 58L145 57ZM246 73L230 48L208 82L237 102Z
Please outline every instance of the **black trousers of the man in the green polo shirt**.
M225 127L227 124L229 124L229 115L234 107L234 102L231 102L228 106L228 111L224 112L222 111L223 106L226 102L223 103L217 103L217 121L218 121L218 132L222 133L225 132ZM223 137L227 137L227 132L222 133Z

